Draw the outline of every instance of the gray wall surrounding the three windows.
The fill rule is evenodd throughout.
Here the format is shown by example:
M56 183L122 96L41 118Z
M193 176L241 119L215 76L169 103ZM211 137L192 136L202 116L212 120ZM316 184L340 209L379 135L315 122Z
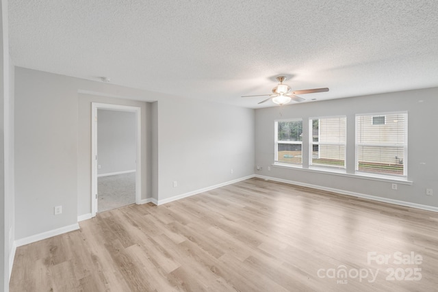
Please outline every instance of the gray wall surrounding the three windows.
M436 151L438 136L435 129L437 96L438 88L429 88L257 109L255 111L255 164L261 165L263 170L256 173L298 183L438 207L438 196L426 196L426 187L438 190ZM302 118L303 131L307 131L308 123L305 121L311 117L346 115L347 172L352 174L355 172L355 114L385 111L408 111L407 165L408 179L413 181L412 185L399 183L398 190L393 190L389 182L364 178L277 166L271 166L271 170L268 171L268 166L274 162L274 120ZM303 142L303 152L307 153L307 145L307 142ZM303 165L308 166L307 159L303 159Z

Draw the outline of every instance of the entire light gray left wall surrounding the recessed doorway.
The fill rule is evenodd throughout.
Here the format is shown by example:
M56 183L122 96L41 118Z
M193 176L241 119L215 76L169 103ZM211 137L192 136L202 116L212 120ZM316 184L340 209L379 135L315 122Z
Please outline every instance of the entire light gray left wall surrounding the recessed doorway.
M91 101L142 101L144 139L151 137L142 148L151 159L142 198L164 200L254 173L253 109L19 67L15 77L16 239L91 213ZM63 212L55 216L57 205Z

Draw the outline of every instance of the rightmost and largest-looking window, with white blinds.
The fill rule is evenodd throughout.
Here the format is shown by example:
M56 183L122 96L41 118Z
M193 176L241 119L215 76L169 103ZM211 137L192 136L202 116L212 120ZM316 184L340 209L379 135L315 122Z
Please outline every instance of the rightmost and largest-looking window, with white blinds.
M356 116L356 171L407 176L406 163L407 113Z

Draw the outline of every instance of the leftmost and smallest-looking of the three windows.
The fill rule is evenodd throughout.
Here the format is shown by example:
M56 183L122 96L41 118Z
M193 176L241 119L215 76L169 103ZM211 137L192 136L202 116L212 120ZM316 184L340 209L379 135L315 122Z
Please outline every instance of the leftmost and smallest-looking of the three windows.
M275 122L275 162L302 164L302 120Z

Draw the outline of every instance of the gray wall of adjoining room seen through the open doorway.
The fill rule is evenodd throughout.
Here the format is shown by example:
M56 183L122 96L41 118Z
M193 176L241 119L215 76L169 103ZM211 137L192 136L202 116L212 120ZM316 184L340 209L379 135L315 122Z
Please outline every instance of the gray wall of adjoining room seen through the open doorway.
M97 174L136 170L136 114L97 110Z

